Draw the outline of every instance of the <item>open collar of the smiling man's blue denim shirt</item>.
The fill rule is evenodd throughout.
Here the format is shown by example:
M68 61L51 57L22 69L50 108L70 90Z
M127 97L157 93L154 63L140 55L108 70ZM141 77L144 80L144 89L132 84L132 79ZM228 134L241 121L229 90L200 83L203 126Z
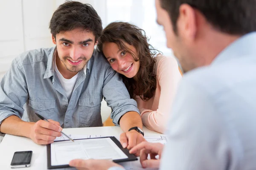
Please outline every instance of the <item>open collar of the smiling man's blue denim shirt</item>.
M48 61L47 61L47 68L46 68L46 71L45 71L45 74L44 74L44 79L46 78L49 78L49 77L52 77L54 75L54 61L53 59L55 59L56 57L56 54L57 54L57 50L56 50L56 46L55 47L52 47L51 48L51 52L48 56ZM94 52L93 52L93 55L94 55ZM87 62L87 64L84 66L84 74L86 75L87 71L88 71L88 74L90 74L90 60Z

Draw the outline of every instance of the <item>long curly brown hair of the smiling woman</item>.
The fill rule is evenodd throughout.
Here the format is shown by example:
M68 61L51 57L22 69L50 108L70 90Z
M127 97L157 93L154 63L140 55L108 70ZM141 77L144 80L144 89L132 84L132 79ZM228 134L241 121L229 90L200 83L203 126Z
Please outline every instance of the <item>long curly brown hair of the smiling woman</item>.
M157 54L162 54L148 44L148 37L143 29L138 28L130 23L113 22L103 29L99 38L97 50L102 52L104 42L114 42L123 52L131 54L134 60L140 61L140 69L137 73L137 82L133 78L122 75L123 82L132 99L139 95L144 101L148 101L154 96L157 86L157 76L154 74L154 58ZM128 48L125 43L133 45L137 51L137 56ZM134 91L137 89L138 94Z

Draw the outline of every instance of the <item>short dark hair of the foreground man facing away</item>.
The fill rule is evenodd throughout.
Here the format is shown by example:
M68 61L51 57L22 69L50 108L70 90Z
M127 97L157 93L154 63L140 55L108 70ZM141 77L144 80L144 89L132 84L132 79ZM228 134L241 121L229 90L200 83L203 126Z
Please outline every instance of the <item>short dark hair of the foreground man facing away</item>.
M176 34L181 4L200 11L214 28L224 33L243 35L256 31L256 0L160 0Z

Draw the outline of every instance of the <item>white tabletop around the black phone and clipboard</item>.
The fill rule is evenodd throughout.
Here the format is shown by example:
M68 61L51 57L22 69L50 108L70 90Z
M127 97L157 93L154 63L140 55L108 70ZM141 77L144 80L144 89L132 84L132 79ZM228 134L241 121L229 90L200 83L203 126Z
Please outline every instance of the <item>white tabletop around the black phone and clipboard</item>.
M63 131L72 135L119 136L122 133L121 128L118 126L69 128L63 129ZM143 127L143 131L145 136L160 135L160 133L148 130L146 127ZM22 168L22 170L47 170L46 145L38 145L29 138L8 134L0 143L0 170L15 170L10 167L12 156L16 151L25 150L32 150L33 154L31 167ZM71 170L73 168L65 169Z

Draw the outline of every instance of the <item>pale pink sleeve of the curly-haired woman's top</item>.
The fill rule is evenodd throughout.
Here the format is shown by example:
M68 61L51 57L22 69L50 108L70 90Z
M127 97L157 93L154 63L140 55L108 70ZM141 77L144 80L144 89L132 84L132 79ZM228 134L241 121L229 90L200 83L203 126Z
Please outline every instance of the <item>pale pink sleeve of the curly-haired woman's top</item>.
M156 111L140 109L142 122L148 129L164 133L180 79L181 75L175 58L165 57L160 60L157 65L157 83L161 90L158 108Z

